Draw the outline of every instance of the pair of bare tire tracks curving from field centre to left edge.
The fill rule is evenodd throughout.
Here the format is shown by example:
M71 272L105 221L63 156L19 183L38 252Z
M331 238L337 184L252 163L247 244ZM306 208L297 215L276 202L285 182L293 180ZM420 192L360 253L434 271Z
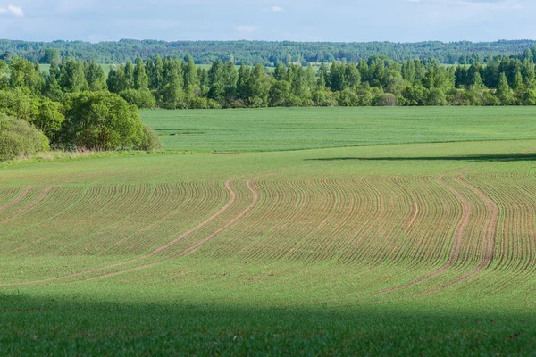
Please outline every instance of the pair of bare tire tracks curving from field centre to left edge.
M264 175L266 176L266 175ZM149 264L145 264L145 265L141 265L141 266L138 266L138 267L133 267L133 268L129 268L129 269L126 269L126 270L120 270L120 271L115 271L115 272L111 272L111 273L108 273L108 274L104 274L104 275L101 275L101 276L97 276L97 277L94 277L94 278L87 278L87 279L82 279L80 281L88 281L88 280L94 280L96 278L107 278L107 277L111 277L113 275L118 275L118 274L121 274L121 273L125 273L125 272L129 272L129 271L133 271L133 270L141 270L141 269L145 269L145 268L149 268L149 267L153 267L155 265L160 265L160 264L163 264L165 262L171 262L175 259L178 259L188 253L192 253L194 251L197 250L197 248L199 248L201 245L204 245L206 242L210 241L211 239L213 239L214 237L216 237L217 235L219 235L220 233L222 233L222 231L224 231L225 229L227 228L230 228L231 226L235 225L239 220L241 220L244 216L247 215L248 212L250 212L251 210L253 210L253 208L259 203L260 201L260 195L259 193L253 188L252 186L252 182L255 180L255 179L259 179L261 178L262 176L259 176L259 177L255 177L253 179L248 179L247 182L246 182L246 186L247 186L247 189L253 194L253 200L252 200L252 203L250 203L247 208L240 212L239 215L237 215L233 220L230 220L230 222L228 222L227 224L225 224L222 228L218 228L217 230L214 231L214 233L212 233L211 235L205 237L204 239L202 239L201 241L197 242L195 245L191 245L189 246L187 249L185 249L184 251L180 252L179 254L176 254L175 256L173 256L172 258L169 258L169 259L166 259L166 260L163 260L163 261L159 261L159 262L152 262L152 263L149 263ZM10 284L0 284L0 286L21 286L21 285L30 285L30 284L38 284L38 283L46 283L46 282L53 282L53 281L57 281L57 280L62 280L62 279L66 279L66 278L74 278L74 277L79 277L81 275L85 275L85 274L89 274L89 273L92 273L92 272L96 272L96 271L101 271L101 270L108 270L108 269L112 269L112 268L117 268L117 267L121 267L123 265L127 265L127 264L131 264L131 263L135 263L135 262L140 262L142 260L146 260L148 258L151 258L153 256L155 256L157 253L162 253L163 251L165 251L167 248L171 247L172 245L178 243L180 240L184 239L185 237L188 237L190 234L194 233L195 231L197 231L199 228L203 228L206 224L210 223L212 220L215 220L216 218L218 218L219 216L221 216L224 212L226 212L227 210L229 210L230 206L235 203L236 201L236 192L230 187L230 183L233 181L234 179L229 179L227 181L225 181L224 183L224 186L225 188L227 189L227 191L229 192L229 200L228 202L218 211L218 212L215 212L212 216L210 216L208 219L204 220L203 222L199 223L196 227L194 228L190 228L188 229L188 231L182 233L179 237L176 237L174 238L171 242L168 242L167 244L165 245L162 245L158 248L156 248L154 251L152 251L151 253L147 253L146 255L143 255L141 257L138 257L138 258L134 258L134 259L130 259L128 261L124 261L124 262L118 262L118 263L114 263L114 264L109 264L109 265L105 265L105 266L102 266L102 267L99 267L99 268L95 268L95 269L89 269L89 270L83 270L83 271L80 271L80 272L76 272L76 273L72 273L72 274L68 274L68 275L64 275L62 277L55 277L55 278L46 278L46 279L40 279L40 280L32 280L32 281L26 281L26 282L19 282L19 283L10 283Z

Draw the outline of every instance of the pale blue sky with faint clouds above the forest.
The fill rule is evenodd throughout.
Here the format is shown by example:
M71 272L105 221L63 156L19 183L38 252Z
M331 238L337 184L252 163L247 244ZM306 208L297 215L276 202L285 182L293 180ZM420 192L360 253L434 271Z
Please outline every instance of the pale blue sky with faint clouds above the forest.
M27 41L536 39L536 0L0 0Z

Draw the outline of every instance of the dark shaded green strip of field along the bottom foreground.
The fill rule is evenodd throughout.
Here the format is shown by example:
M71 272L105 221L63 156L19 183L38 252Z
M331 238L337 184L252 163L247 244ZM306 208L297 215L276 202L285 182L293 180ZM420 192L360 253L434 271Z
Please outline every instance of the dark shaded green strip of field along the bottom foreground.
M0 293L0 355L522 355L534 352L536 336L533 312L151 303L148 296L127 303Z

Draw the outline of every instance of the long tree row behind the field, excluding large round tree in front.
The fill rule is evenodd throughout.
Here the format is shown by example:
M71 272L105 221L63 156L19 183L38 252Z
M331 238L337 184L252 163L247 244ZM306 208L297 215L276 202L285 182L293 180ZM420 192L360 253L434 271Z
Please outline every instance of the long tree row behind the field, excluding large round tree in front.
M0 62L3 87L11 89L0 95L0 108L45 133L62 129L66 100L80 92L113 93L138 108L165 109L536 104L531 50L471 65L374 56L359 62L322 63L319 68L279 62L273 71L260 64L238 67L220 60L205 68L191 56L184 60L157 56L113 66L107 75L94 61L65 59L53 62L49 73L41 73L38 64L16 58L9 65ZM21 103L21 98L33 104L13 104Z

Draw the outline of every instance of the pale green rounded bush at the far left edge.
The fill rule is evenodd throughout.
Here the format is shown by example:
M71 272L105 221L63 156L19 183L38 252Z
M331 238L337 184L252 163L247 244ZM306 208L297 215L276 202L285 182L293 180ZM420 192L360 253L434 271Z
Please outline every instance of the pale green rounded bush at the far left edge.
M48 138L28 122L0 114L0 160L49 150Z

